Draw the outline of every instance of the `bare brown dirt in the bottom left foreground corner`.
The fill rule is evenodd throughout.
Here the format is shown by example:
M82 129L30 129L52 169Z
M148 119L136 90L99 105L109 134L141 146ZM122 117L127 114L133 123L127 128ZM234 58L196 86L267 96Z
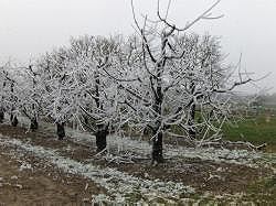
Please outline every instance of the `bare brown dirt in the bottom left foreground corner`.
M88 203L92 202L93 194L105 193L93 182L45 166L34 158L21 156L21 161L24 159L24 162L35 166L33 170L20 171L19 159L10 154L7 148L0 148L0 151L1 206L91 205Z

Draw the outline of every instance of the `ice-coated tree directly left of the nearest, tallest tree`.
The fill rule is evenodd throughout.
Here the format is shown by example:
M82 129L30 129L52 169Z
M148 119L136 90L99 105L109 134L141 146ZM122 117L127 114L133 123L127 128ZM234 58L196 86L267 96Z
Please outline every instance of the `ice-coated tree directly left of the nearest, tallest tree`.
M96 135L97 151L106 148L108 128L114 127L117 111L117 86L105 72L116 69L120 56L118 37L83 36L72 39L71 54L74 67L78 68L75 78L82 95L77 97L77 107L82 115L82 126Z

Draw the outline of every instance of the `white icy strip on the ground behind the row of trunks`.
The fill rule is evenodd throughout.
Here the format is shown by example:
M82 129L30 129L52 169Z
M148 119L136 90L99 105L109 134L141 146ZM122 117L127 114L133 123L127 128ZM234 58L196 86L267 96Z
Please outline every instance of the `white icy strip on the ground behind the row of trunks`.
M29 120L24 117L19 118L23 126L28 126ZM44 131L54 133L54 124L43 122L41 124ZM66 135L76 143L84 145L95 145L96 139L88 132L73 130L66 128ZM110 148L120 151L134 152L136 158L148 158L150 155L151 145L149 142L134 140L129 137L118 137L116 134L110 134L107 138L108 151ZM190 158L190 159L201 159L210 160L214 162L225 162L234 164L243 164L247 166L257 166L255 164L259 159L262 159L263 153L247 151L247 150L229 150L229 149L217 149L217 148L185 148L185 147L173 147L164 144L163 147L164 158L176 159Z

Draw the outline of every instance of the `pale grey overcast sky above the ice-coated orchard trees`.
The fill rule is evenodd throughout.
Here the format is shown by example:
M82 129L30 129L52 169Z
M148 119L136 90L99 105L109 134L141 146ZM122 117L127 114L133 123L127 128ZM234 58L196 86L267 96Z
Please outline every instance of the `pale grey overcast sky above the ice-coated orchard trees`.
M156 2L135 0L137 14L155 17ZM184 25L212 2L172 0L170 19ZM256 78L272 73L258 85L276 93L276 0L222 0L213 13L225 17L190 31L222 36L229 62L243 53L243 67ZM0 0L0 61L28 62L66 45L70 36L130 34L132 25L130 0Z

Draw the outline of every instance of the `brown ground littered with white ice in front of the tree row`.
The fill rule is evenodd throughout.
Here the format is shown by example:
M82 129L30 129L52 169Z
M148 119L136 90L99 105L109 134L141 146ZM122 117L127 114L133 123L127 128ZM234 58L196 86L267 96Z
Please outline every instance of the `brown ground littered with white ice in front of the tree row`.
M0 133L3 205L274 204L276 199L273 156L265 162L262 154L251 158L245 151L226 150L212 156L215 149L201 155L181 151L170 155L168 149L166 163L153 166L149 153L130 148L131 155L112 144L107 154L95 155L93 142L84 144L81 137L57 141L45 130L26 132L8 124L0 126ZM126 161L126 155L132 158Z

